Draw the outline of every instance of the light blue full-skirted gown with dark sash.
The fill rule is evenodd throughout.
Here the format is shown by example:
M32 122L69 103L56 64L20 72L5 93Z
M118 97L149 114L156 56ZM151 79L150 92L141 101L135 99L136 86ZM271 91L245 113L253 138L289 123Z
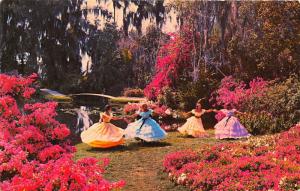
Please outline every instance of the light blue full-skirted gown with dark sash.
M167 133L151 118L152 110L139 112L141 119L128 124L125 129L125 139L140 138L146 142L158 141L166 137Z

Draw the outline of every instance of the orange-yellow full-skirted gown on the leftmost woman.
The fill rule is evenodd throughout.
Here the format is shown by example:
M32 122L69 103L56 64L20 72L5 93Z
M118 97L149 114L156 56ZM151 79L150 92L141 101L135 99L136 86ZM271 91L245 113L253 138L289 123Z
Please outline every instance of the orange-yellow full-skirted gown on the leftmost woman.
M83 143L97 148L109 148L124 143L124 130L110 123L112 114L101 113L102 122L95 123L81 133Z

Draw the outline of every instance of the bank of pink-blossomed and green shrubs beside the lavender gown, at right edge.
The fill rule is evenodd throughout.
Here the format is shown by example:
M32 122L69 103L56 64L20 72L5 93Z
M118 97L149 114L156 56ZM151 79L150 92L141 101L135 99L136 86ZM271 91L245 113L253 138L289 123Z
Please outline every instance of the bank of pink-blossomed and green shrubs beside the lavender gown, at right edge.
M266 134L286 130L300 120L299 92L298 77L283 82L256 78L249 84L226 77L211 101L245 112L239 118L250 133Z

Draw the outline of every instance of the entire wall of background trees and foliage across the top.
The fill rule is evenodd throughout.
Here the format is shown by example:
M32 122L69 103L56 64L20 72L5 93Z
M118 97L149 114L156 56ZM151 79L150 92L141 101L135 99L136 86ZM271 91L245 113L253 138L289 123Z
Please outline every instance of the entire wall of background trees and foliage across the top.
M298 2L112 1L113 11L101 3L2 1L1 72L36 72L42 85L65 92L120 94L149 84L145 92L156 99L168 86L185 109L187 99L207 97L201 90L185 95L185 86L196 90L207 81L210 91L226 75L250 81L299 74ZM117 9L122 26L115 25ZM155 25L146 29L144 19ZM162 31L167 19L180 26L172 35Z

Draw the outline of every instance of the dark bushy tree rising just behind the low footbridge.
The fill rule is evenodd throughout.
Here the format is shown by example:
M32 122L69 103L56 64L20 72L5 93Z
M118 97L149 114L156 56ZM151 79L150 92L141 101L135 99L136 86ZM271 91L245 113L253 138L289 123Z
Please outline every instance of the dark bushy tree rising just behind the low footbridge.
M118 94L126 86L129 67L122 62L118 50L119 31L114 24L106 24L103 30L94 30L88 41L88 54L92 59L87 87L90 91L101 89L103 93Z

